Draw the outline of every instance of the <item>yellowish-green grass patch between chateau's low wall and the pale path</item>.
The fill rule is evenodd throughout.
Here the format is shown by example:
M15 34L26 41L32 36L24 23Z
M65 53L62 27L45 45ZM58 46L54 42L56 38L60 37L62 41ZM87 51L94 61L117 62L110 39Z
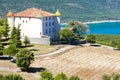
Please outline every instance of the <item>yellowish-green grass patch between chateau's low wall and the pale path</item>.
M33 44L34 46L28 47L35 54L46 54L54 52L65 45L44 45L44 44Z

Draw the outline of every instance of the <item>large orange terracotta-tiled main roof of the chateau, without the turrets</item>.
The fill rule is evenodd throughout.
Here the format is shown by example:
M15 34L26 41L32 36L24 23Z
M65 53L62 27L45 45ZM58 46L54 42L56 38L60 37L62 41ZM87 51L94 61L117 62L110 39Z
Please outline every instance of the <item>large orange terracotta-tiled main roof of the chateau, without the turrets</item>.
M38 15L38 13L40 13L43 17L48 17L48 16L55 16L52 13L43 11L41 9L37 9L37 8L29 8L27 10L21 11L17 14L14 14L14 16L18 16L18 17L36 17Z

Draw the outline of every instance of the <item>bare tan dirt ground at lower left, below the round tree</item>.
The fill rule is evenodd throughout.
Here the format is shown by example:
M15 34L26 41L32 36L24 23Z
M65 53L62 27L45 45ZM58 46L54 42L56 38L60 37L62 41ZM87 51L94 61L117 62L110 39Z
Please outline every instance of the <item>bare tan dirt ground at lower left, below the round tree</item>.
M20 74L25 80L38 80L31 73L17 72L19 70L15 63L11 63L9 60L0 60L0 74Z

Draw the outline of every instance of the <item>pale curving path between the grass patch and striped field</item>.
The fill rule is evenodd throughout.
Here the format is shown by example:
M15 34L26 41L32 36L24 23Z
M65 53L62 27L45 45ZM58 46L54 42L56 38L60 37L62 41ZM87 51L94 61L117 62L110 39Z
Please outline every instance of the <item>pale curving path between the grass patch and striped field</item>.
M63 48L61 48L61 49L59 49L59 50L57 50L57 51L54 51L54 52L51 52L51 53L48 53L48 54L36 54L36 55L35 55L35 58L37 58L37 57L51 56L51 55L54 55L54 54L60 54L61 52L64 52L64 51L66 51L66 50L69 50L69 49L71 49L71 48L73 48L73 47L75 47L75 46L73 46L73 45L68 45L68 46L66 46L66 47L63 47Z

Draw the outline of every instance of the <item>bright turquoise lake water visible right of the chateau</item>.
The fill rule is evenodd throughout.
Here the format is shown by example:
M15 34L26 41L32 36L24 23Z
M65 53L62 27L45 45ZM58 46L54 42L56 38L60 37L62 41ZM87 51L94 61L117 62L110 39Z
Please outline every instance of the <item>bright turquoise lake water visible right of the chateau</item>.
M90 34L120 34L120 22L104 22L88 24ZM65 28L66 24L61 24Z

